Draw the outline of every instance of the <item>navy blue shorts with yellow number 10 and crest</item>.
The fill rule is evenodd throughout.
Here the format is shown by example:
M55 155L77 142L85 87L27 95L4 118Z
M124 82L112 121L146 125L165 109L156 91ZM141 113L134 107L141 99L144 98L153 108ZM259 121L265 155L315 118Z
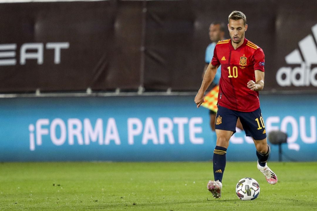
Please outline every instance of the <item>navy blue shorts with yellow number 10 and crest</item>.
M215 128L236 133L236 122L238 117L240 118L246 136L251 136L254 140L266 138L265 125L260 108L252 112L242 112L227 109L218 105Z

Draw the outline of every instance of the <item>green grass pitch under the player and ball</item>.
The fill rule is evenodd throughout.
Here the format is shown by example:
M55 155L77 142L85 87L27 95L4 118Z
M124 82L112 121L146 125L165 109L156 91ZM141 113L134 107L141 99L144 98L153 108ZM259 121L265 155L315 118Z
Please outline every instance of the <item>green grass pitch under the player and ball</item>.
M269 162L270 185L256 162L228 162L222 198L206 186L211 162L61 162L0 164L0 210L316 210L317 163ZM254 201L240 201L236 183L260 184Z

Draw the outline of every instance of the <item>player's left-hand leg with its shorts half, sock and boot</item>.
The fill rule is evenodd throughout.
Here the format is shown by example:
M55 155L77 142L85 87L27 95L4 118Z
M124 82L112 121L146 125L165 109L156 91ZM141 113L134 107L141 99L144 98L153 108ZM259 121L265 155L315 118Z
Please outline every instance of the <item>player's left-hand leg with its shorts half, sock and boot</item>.
M236 132L237 116L235 112L218 106L216 115L216 135L217 143L213 154L214 179L210 180L207 188L215 198L220 198L222 188L222 178L226 166L226 153L229 146L229 140Z

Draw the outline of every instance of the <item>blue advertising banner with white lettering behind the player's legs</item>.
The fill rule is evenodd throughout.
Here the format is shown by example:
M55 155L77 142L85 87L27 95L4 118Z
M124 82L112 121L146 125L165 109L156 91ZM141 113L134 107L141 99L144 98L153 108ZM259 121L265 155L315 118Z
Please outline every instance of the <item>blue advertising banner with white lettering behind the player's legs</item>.
M285 161L317 161L314 95L262 95L267 133L288 134ZM194 96L0 99L0 161L205 161L216 135ZM261 126L262 127L262 126ZM255 161L253 140L232 136L229 161ZM270 160L278 160L271 145Z

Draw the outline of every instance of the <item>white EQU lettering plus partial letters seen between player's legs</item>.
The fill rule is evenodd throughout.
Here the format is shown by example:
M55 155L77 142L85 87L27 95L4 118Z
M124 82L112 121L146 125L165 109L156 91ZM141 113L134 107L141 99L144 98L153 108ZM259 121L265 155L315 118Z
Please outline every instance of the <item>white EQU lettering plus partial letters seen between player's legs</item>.
M266 132L281 130L288 134L288 149L300 150L300 145L296 141L301 138L305 144L314 144L317 142L317 128L316 128L316 117L311 116L309 118L309 124L306 124L305 116L300 116L299 120L296 120L293 116L285 116L282 120L279 116L270 116L266 120ZM307 135L306 129L310 129L310 136ZM290 129L290 130L288 130ZM243 133L240 129L236 128L237 133ZM236 134L236 133L235 133ZM249 136L236 137L233 134L230 138L230 142L233 144L243 144L244 141L248 144L253 144L253 140Z

